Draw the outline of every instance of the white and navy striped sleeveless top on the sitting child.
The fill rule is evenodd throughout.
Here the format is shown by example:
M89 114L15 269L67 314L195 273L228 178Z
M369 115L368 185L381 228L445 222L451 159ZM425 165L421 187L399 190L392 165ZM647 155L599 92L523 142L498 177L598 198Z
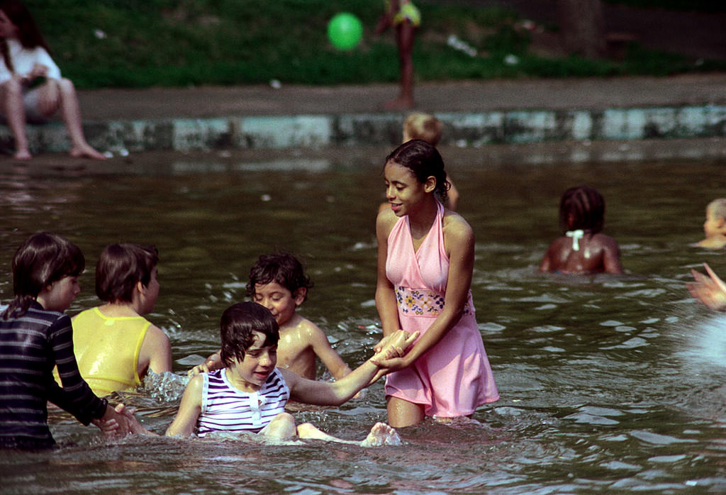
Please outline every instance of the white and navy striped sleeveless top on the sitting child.
M237 390L227 380L224 368L204 373L202 412L197 435L212 431L259 433L272 418L285 412L290 389L275 368L257 392Z

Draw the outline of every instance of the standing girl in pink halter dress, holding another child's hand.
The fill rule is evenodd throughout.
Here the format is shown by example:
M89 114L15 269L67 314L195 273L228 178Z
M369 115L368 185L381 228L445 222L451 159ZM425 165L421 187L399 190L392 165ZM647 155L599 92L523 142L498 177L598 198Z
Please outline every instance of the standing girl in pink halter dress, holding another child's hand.
M376 220L382 344L399 328L421 334L405 356L385 363L393 370L386 379L388 424L469 416L499 398L471 299L473 232L441 205L449 183L430 144L401 144L383 172L391 208Z

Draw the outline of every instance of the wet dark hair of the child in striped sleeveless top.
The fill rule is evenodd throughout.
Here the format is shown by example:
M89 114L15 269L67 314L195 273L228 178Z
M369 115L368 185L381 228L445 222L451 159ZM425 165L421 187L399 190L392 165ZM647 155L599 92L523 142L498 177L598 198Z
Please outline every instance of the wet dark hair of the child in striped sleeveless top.
M245 352L255 342L254 332L264 334L265 347L277 345L280 340L280 327L272 313L251 301L229 306L222 314L219 327L222 342L219 356L225 367L232 366L232 359L245 359Z

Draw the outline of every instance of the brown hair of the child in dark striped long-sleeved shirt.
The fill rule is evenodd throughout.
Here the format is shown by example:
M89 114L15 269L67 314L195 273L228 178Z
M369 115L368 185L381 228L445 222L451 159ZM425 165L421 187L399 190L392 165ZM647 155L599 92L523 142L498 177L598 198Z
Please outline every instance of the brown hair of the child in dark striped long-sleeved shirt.
M12 257L15 298L2 319L20 318L45 287L63 277L78 277L86 268L81 249L58 234L38 232L17 248Z

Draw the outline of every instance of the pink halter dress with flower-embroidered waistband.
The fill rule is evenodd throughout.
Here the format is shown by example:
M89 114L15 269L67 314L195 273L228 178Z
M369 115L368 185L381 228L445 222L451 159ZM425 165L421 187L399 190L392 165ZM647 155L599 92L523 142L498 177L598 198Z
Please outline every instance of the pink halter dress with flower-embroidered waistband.
M401 328L423 335L444 308L449 258L444 249L444 207L418 251L414 251L408 216L388 235L386 276L396 290ZM425 414L457 417L499 399L492 367L476 324L469 291L464 314L414 364L386 377L386 396L423 404Z

